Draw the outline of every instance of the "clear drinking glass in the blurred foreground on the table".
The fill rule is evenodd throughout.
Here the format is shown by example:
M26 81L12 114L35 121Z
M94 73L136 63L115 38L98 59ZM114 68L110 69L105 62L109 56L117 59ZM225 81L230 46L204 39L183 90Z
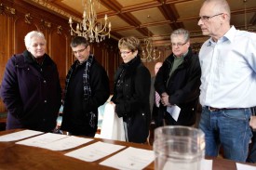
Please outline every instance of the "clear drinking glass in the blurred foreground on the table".
M155 129L155 170L200 170L205 134L197 128L168 125Z

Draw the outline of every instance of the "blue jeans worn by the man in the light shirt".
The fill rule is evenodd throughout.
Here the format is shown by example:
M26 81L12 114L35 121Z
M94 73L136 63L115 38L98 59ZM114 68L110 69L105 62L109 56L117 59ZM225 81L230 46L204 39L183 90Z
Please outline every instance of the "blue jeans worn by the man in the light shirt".
M217 156L222 146L224 158L246 162L249 139L250 109L209 111L202 108L199 128L205 133L206 155Z

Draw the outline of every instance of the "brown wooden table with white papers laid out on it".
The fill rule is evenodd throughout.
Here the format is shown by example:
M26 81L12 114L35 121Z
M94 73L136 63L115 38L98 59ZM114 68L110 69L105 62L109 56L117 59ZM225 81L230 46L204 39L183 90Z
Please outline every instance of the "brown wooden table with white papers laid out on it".
M12 132L20 131L19 130L8 130L0 131L1 135L6 135ZM145 144L136 144L128 143L122 141L94 138L93 141L88 142L87 144L81 145L79 148L85 147L95 141L102 141L107 143L113 143L118 145L123 145L127 147L135 147L145 150L152 150L152 146ZM72 149L72 150L76 150ZM0 142L0 169L25 169L25 170L85 170L85 169L113 169L111 167L102 166L101 163L103 160L109 158L109 155L101 160L96 162L88 163L83 162L72 157L65 156L66 152L71 150L64 151L52 151L35 147L28 147L23 145L15 144L15 142ZM250 165L256 166L256 164L248 163ZM150 163L145 169L154 169L154 163ZM213 158L213 170L236 170L236 163L233 161Z

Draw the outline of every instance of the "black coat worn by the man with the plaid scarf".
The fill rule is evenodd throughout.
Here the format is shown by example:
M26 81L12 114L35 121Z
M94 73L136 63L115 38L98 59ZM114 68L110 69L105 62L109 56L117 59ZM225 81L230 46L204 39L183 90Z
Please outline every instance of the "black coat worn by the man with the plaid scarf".
M81 65L77 62L78 60L75 60L71 66L74 71L70 80L66 81L67 92L64 99L61 129L74 135L94 137L98 128L98 108L110 96L109 79L101 64L93 59L89 71L91 97L85 99L83 73L87 62ZM91 111L95 113L93 119L91 119Z

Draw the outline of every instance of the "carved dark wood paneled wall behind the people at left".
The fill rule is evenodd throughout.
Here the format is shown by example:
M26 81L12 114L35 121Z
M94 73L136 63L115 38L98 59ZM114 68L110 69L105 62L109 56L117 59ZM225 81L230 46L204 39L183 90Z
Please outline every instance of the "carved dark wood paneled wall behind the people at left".
M0 85L7 60L25 50L24 36L31 31L41 31L47 39L47 54L56 62L64 87L66 73L74 62L70 48L71 35L67 19L34 7L23 0L0 1ZM117 41L106 39L100 44L91 44L91 52L108 72L113 86L114 72L119 65ZM112 87L113 88L113 87ZM0 112L6 111L0 102Z

